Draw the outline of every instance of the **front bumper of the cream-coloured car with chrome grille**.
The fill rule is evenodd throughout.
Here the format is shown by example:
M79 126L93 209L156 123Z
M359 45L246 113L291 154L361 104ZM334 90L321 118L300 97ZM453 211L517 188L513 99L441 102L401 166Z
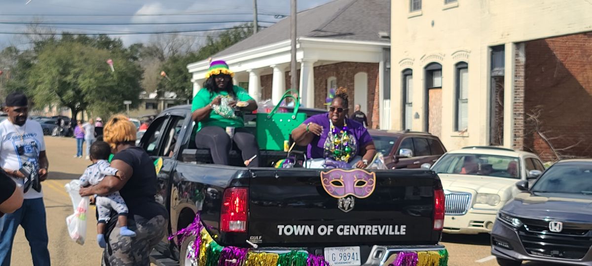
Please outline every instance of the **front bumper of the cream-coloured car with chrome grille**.
M471 209L465 215L446 215L444 217L445 233L490 233L496 222L497 210Z

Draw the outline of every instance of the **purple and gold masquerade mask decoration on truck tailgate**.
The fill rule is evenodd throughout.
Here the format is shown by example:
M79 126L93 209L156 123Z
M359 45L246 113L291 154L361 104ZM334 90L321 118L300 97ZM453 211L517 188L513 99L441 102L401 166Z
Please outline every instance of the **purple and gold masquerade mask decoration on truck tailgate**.
M323 189L327 194L336 199L350 195L358 199L365 199L376 188L376 174L361 169L333 169L321 172L321 183L323 183Z

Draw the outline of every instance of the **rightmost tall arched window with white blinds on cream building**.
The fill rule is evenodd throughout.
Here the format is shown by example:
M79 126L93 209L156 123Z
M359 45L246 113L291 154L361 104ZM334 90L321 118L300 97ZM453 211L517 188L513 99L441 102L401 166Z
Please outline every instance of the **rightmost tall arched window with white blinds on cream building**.
M468 64L456 64L456 131L464 131L469 123L469 69Z

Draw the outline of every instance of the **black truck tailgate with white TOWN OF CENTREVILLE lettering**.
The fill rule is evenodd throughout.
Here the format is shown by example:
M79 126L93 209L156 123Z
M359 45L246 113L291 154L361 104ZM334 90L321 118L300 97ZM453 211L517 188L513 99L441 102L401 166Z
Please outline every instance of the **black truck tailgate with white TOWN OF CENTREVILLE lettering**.
M332 183L336 185L343 185L347 175L302 168L252 170L249 241L260 246L344 246L436 244L439 240L440 232L432 230L434 188L440 182L435 174L376 171L374 190L339 200L339 195L323 186L321 172L324 177L341 177L341 183ZM366 183L355 185L362 188Z

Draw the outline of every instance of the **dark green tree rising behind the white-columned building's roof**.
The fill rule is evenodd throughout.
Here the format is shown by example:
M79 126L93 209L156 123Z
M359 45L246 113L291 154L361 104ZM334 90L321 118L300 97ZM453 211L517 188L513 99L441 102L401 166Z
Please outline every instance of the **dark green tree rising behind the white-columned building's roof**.
M160 80L158 90L160 92L175 92L179 103L191 99L193 86L191 83L191 73L188 72L187 65L195 61L208 59L208 57L214 56L214 54L249 37L253 34L253 28L248 26L249 24L245 24L234 27L231 30L223 31L217 36L208 36L205 40L205 45L197 52L170 56L162 66L162 70L165 71L169 79ZM156 75L159 73L146 74Z

